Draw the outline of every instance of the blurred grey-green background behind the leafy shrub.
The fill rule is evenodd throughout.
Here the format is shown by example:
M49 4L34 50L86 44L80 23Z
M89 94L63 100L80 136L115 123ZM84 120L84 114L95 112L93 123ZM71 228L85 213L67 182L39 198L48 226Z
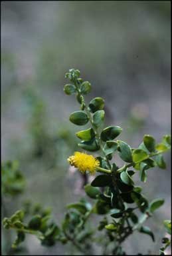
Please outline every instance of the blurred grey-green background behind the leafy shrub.
M3 197L7 217L31 199L52 207L60 223L65 205L84 195L66 161L79 130L68 121L78 110L63 91L68 69L92 84L87 101L105 99L106 124L123 127L120 139L131 147L145 134L161 141L170 133L170 9L170 1L1 1L1 157L19 161L27 181L23 194ZM135 233L125 243L130 255L158 254L161 246L163 219L171 218L170 153L165 161L167 169L152 169L141 184L149 199L165 198L147 221L156 242ZM14 234L2 232L7 255ZM59 243L41 247L31 235L23 247L25 255L71 253Z

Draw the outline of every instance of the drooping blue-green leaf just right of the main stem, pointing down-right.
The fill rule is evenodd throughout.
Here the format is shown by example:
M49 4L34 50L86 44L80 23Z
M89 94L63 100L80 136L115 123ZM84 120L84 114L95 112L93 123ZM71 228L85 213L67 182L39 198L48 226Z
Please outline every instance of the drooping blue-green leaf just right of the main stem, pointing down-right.
M133 161L131 147L129 147L129 145L124 141L117 141L117 142L120 147L119 155L121 159L128 163L131 163Z

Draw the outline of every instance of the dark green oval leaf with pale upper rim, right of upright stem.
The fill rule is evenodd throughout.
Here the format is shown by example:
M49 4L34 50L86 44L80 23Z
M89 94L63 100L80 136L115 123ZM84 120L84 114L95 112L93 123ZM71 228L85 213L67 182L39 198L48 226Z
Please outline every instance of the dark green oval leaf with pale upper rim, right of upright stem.
M112 141L120 133L122 132L122 128L120 126L108 126L101 133L102 141Z

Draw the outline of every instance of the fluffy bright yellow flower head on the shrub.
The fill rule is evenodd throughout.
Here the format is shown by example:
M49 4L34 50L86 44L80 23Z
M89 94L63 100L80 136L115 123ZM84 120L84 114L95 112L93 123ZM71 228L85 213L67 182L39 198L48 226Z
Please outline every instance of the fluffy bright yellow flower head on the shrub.
M68 158L68 163L78 168L81 173L89 171L92 175L95 173L96 168L100 166L100 162L92 155L80 152L74 152L74 155Z

